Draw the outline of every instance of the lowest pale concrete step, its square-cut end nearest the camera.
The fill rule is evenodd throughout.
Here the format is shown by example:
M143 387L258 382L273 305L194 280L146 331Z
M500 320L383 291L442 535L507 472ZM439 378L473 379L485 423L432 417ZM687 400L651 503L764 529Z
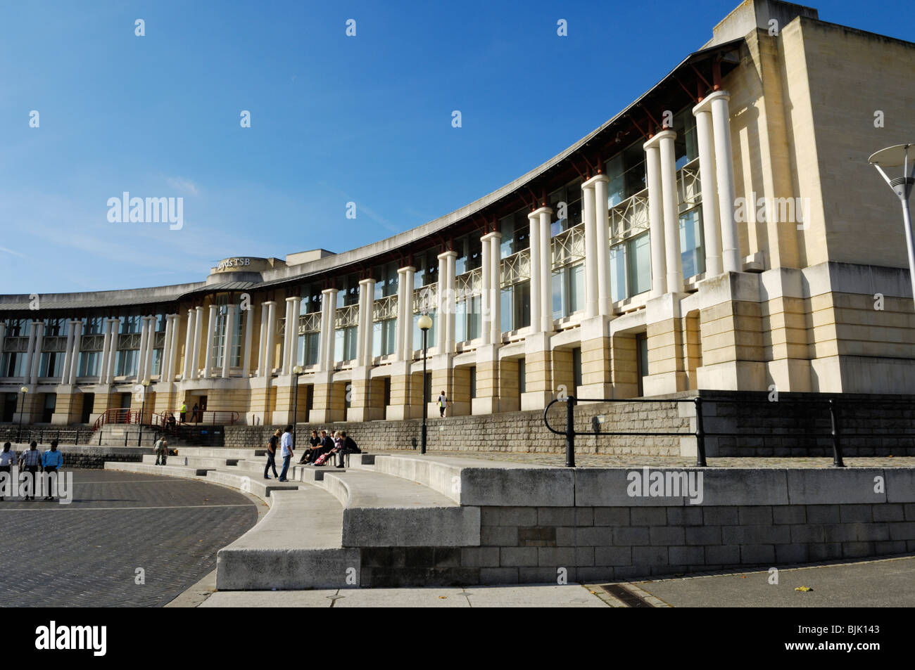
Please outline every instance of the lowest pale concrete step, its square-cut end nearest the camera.
M316 486L274 491L261 521L216 556L219 590L359 585L361 552L342 548L343 508Z

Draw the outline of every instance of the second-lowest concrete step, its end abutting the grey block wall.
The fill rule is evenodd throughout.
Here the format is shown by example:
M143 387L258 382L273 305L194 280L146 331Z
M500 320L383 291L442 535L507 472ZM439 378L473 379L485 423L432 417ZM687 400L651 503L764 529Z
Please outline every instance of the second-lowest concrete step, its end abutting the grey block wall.
M344 507L344 547L479 547L479 507L386 474L334 469L319 476L314 484Z

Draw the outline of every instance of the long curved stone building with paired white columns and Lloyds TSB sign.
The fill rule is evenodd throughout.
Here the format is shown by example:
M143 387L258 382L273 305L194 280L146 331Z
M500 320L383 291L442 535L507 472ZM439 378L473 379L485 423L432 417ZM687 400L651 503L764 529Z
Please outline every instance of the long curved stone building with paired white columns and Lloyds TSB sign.
M144 381L156 413L285 423L297 397L299 421L416 417L421 314L430 396L458 415L563 392L915 392L899 204L867 165L915 140L898 85L915 45L748 0L672 67L561 154L393 238L0 296L3 420L90 423L138 408Z

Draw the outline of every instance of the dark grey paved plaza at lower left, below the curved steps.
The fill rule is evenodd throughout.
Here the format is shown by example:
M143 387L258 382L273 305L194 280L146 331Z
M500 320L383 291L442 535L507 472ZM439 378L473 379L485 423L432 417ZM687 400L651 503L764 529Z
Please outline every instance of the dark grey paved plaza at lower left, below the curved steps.
M215 484L76 470L70 505L7 498L0 519L0 606L156 607L215 569L257 506Z

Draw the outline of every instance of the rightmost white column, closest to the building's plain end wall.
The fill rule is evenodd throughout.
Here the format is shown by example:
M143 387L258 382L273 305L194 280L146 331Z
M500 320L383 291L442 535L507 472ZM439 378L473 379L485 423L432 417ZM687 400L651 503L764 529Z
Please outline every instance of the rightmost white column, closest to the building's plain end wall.
M731 119L727 101L731 96L718 90L705 100L712 105L715 127L715 167L718 177L718 216L721 217L721 263L726 272L739 272L740 262L737 223L734 220L734 160L731 155Z

